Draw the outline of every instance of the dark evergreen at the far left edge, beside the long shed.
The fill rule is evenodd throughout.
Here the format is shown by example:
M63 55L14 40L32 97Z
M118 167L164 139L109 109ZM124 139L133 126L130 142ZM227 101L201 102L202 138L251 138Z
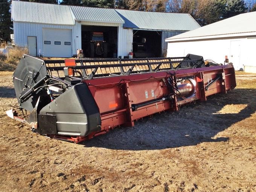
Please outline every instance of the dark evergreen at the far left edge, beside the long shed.
M0 41L11 41L12 21L10 0L0 0Z

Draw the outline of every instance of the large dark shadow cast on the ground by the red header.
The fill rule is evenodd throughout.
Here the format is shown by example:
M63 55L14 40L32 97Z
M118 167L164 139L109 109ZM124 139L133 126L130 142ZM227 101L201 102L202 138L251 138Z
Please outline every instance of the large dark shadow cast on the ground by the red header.
M216 134L256 111L256 99L252 96L256 96L256 89L235 89L228 94L210 96L206 102L184 106L180 111L145 117L134 127L116 128L80 144L108 149L154 150L227 141L229 137L215 137ZM226 105L225 112L218 113ZM239 107L241 110L236 110Z

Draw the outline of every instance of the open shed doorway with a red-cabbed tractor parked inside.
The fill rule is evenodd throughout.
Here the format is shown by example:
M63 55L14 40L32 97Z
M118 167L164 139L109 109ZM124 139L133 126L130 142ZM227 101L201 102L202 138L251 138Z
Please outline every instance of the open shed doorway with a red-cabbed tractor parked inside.
M82 49L85 57L116 58L118 27L82 25Z

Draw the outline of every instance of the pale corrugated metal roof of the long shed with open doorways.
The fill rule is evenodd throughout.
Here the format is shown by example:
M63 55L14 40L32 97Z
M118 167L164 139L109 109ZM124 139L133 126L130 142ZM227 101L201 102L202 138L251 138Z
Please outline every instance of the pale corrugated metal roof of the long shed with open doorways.
M187 31L200 25L189 14L130 11L12 1L12 20L30 23L74 25L77 21L123 23L145 30Z

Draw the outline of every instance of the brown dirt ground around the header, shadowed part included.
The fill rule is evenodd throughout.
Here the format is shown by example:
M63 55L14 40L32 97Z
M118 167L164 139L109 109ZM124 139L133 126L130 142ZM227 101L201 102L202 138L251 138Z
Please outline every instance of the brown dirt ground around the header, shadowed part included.
M6 116L17 108L11 75L0 72L0 191L256 191L256 74L79 144Z

